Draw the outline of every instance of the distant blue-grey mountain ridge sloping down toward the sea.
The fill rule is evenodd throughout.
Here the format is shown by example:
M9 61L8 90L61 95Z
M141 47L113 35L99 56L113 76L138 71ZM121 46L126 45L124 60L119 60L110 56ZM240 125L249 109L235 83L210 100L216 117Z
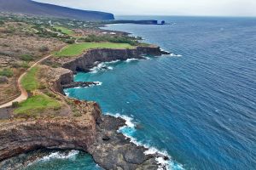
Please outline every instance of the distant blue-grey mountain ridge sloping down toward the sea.
M0 12L35 14L76 20L114 20L113 14L61 7L32 0L0 0Z

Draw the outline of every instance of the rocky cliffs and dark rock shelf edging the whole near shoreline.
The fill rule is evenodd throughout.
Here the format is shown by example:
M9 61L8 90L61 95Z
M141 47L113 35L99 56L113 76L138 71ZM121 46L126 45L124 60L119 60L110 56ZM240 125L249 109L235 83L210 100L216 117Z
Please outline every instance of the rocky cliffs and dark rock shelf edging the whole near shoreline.
M96 85L96 82L73 82L73 74L77 71L90 71L99 62L116 59L142 59L144 54L161 55L159 47L137 47L135 49L91 49L74 58L53 59L63 68L59 76L52 80L52 90L63 95L63 88ZM65 97L65 96L63 96ZM67 97L65 97L67 98ZM73 102L84 111L81 116L57 116L40 119L9 119L0 124L0 169L13 169L13 156L18 156L38 149L83 150L104 169L166 169L157 158L168 160L168 157L153 153L143 146L131 143L119 127L125 126L125 120L113 116L102 115L96 102ZM13 162L13 163L10 163Z

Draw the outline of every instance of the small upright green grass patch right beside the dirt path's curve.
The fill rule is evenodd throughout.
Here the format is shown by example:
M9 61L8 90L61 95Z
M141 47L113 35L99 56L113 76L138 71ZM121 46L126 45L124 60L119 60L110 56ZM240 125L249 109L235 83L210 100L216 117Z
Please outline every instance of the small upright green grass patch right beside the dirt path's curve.
M21 85L26 91L33 91L39 87L39 83L37 80L37 72L39 68L33 67L30 71L26 73L26 75L21 79Z

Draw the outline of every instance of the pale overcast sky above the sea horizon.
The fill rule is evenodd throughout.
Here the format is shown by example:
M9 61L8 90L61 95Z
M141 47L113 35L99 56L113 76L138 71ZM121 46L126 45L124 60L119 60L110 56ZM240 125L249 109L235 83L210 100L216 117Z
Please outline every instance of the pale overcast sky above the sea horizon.
M256 0L34 0L115 15L256 16Z

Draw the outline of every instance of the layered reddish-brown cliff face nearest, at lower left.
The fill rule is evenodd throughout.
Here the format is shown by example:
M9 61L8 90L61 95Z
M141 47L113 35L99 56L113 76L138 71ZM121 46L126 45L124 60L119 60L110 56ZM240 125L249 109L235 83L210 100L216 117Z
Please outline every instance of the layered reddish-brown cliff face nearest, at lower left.
M99 106L84 102L83 116L15 119L0 123L0 161L39 148L77 149L87 151L96 139Z

